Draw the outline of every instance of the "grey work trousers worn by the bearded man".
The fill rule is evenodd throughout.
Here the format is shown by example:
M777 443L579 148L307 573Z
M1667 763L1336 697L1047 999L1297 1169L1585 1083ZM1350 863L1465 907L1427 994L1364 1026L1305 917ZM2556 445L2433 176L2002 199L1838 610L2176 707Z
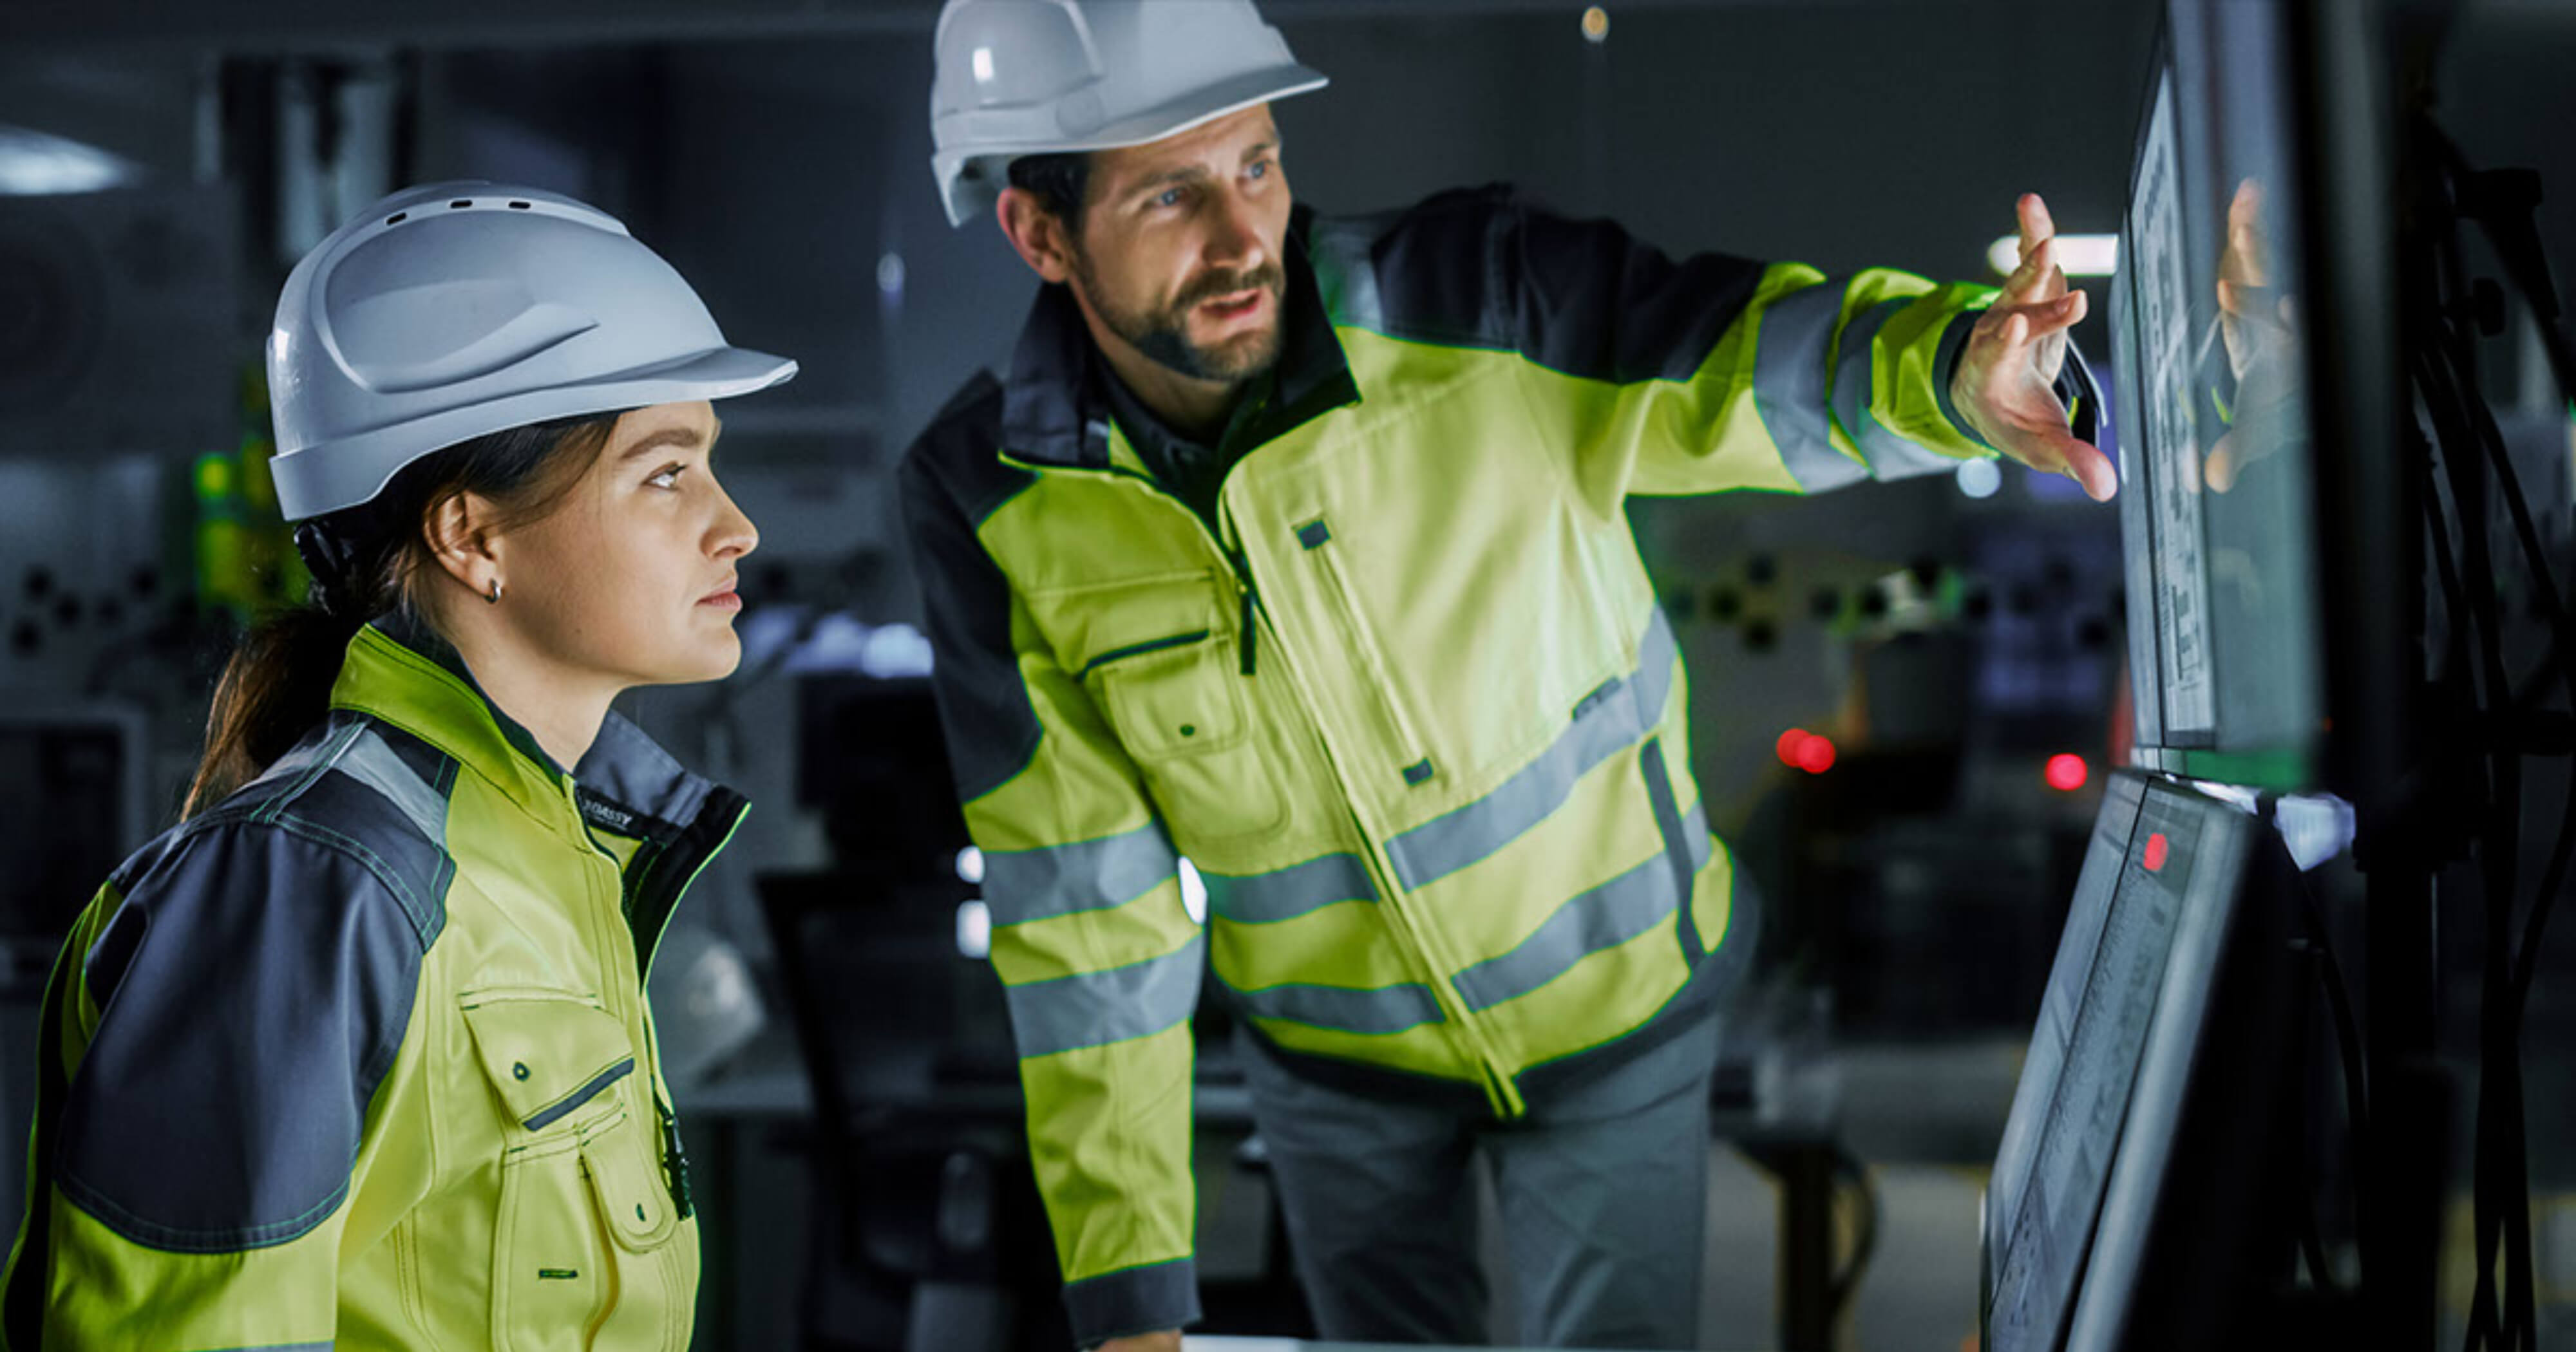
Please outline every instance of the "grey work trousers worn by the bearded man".
M1535 1347L1698 1342L1716 1017L1600 1079L1494 1123L1298 1076L1242 1038L1288 1244L1334 1342L1484 1344L1476 1151Z

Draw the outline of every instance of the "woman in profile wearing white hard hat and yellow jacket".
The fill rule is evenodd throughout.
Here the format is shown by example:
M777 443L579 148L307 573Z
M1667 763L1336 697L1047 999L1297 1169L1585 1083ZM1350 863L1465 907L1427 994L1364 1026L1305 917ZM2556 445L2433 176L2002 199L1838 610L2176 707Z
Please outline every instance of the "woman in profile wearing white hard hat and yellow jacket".
M268 348L314 605L44 1012L8 1347L680 1349L644 973L744 801L608 700L734 670L711 399L793 376L580 201L384 198Z

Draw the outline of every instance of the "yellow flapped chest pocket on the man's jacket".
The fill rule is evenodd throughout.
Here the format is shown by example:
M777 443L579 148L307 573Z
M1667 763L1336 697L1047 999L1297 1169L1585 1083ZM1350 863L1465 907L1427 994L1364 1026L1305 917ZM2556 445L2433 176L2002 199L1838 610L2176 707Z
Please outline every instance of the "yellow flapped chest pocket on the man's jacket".
M1231 590L1226 590L1231 597ZM1285 819L1260 706L1239 662L1236 613L1208 577L1100 587L1082 680L1182 840L1242 840Z

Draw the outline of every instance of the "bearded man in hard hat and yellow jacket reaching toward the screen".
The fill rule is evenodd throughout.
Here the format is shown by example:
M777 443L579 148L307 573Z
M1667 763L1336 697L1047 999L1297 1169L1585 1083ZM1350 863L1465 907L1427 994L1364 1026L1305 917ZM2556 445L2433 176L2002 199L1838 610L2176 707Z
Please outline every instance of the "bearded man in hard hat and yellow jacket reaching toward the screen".
M1327 1337L1484 1342L1481 1149L1522 1337L1685 1347L1754 917L1623 500L1989 448L2107 497L2056 386L2084 296L2038 198L1999 299L1504 191L1319 219L1267 100L1321 82L1249 0L938 28L951 219L1046 286L902 484L1074 1331L1198 1313L1206 968Z

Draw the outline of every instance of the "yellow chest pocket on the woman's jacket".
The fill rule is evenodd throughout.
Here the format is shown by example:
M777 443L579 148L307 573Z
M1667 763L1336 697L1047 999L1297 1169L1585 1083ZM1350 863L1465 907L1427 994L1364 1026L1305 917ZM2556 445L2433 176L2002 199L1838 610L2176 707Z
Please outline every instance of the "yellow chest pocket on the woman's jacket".
M641 1071L626 1025L572 991L477 991L466 1030L510 1118L492 1226L492 1347L590 1347L634 1303L672 1300L626 1257L654 1254L680 1228L634 1120ZM665 1319L654 1319L665 1324ZM685 1324L685 1321L683 1321Z

